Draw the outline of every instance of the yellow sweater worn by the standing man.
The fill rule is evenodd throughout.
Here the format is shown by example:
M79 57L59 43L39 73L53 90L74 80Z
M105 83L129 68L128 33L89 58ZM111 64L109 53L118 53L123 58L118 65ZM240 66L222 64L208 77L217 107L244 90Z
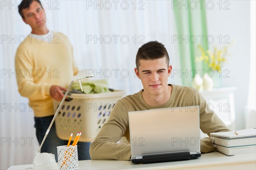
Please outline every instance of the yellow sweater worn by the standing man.
M73 58L73 48L62 33L53 32L52 41L26 39L17 48L15 71L20 95L29 98L35 117L53 115L52 85L68 87L78 68Z

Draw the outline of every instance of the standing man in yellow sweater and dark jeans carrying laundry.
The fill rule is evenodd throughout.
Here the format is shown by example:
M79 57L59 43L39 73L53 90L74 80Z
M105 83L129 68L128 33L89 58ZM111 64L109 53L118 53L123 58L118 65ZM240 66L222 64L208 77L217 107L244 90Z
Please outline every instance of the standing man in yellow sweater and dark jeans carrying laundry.
M52 99L61 101L62 92L79 70L73 58L73 48L68 38L47 29L46 15L40 0L23 0L18 6L23 21L31 34L17 48L15 69L20 95L29 98L29 106L35 115L36 136L41 144L52 121ZM57 159L57 146L66 145L59 139L52 125L41 153L53 153ZM90 159L89 144L78 144L79 160ZM81 148L80 148L81 147Z

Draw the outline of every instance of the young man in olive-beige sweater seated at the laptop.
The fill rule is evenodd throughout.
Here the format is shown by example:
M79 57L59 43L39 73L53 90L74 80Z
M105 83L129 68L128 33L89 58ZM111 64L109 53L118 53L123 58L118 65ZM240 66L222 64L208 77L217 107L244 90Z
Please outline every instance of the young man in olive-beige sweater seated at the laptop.
M130 144L117 143L122 137L130 142L128 112L166 107L200 106L200 127L204 133L230 131L207 107L200 93L191 88L168 84L172 72L169 55L162 43L151 41L141 46L136 55L137 77L143 89L117 101L110 118L90 145L92 159L129 160ZM215 150L211 137L202 140L201 152Z

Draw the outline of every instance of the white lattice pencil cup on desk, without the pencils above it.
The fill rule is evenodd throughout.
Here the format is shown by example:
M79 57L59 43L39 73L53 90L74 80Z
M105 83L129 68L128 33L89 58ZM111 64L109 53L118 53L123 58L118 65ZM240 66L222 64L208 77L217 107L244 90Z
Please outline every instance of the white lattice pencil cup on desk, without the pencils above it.
M78 170L77 145L67 147L67 145L57 147L58 167L60 170Z

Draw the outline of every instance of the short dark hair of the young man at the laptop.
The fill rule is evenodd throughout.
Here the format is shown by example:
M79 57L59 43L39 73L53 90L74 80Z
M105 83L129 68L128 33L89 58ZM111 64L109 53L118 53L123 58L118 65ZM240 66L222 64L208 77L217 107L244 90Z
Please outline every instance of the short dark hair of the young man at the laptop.
M140 60L155 60L163 57L166 58L166 63L169 66L170 59L164 45L158 41L149 41L138 49L136 55L136 67L139 69Z

